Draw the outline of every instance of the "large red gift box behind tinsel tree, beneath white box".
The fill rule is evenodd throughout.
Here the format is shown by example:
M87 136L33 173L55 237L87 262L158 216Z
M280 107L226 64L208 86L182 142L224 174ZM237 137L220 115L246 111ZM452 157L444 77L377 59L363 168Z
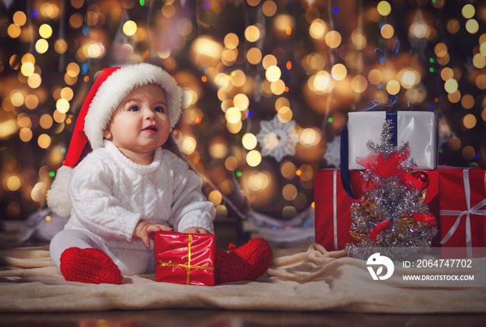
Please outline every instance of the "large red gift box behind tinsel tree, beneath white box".
M446 167L437 167L427 171L429 185L426 188L425 203L430 212L439 220L439 171ZM352 170L351 187L358 199L353 199L343 188L340 169L319 169L315 174L315 242L321 244L328 251L344 249L346 244L352 243L351 205L360 201L367 183L360 171ZM440 223L439 223L440 224ZM439 246L439 235L433 240L432 246Z

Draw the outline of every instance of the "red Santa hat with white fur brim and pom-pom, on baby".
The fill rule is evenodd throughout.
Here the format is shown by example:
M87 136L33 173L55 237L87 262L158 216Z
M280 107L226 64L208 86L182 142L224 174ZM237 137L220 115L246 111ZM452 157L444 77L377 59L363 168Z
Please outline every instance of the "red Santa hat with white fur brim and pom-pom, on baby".
M113 112L130 92L147 84L162 87L169 109L171 129L177 124L181 116L182 89L164 69L146 63L103 69L79 111L66 160L56 172L51 190L47 192L47 205L57 215L71 215L69 181L72 169L81 159L87 141L92 149L103 147L103 131L108 128Z

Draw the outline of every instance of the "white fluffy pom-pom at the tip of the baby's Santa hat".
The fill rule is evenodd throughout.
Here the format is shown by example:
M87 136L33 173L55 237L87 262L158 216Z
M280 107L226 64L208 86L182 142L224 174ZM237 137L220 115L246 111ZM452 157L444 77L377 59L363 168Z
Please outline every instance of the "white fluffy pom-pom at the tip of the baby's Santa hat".
M72 168L61 166L56 171L56 178L52 182L51 190L47 191L47 206L60 217L71 216L71 200L69 199L69 181Z

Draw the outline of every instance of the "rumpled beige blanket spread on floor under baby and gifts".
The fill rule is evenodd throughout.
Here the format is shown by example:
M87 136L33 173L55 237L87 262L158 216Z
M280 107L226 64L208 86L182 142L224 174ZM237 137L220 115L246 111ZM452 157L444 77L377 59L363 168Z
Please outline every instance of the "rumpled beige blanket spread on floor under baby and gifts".
M319 244L274 251L267 274L255 282L203 287L157 283L155 276L125 277L123 285L67 282L46 248L0 252L0 311L99 311L212 308L346 312L486 312L486 287L391 287L398 280L359 286L362 264ZM355 267L353 268L353 261ZM359 262L358 262L359 263ZM471 274L485 269L476 267ZM400 268L398 268L400 269ZM484 270L483 270L484 271ZM395 274L394 274L395 275ZM357 283L358 282L358 283Z

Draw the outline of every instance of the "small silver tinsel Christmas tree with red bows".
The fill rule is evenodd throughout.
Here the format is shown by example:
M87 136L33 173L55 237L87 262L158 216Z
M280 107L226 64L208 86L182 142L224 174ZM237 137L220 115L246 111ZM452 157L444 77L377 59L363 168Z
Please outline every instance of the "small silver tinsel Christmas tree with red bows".
M380 248L383 255L403 256L430 249L437 221L424 203L428 176L412 171L408 142L392 144L392 121L383 124L380 144L368 142L371 153L359 162L369 187L351 206L351 236L346 251L367 258ZM393 251L387 251L394 248Z

